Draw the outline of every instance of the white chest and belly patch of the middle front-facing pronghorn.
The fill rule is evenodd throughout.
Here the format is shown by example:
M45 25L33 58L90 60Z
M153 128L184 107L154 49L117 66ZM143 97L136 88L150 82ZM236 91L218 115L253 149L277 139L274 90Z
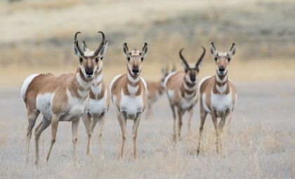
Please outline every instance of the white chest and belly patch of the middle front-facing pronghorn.
M143 95L139 96L125 96L121 93L120 111L126 112L127 119L134 120L136 113L143 112Z

